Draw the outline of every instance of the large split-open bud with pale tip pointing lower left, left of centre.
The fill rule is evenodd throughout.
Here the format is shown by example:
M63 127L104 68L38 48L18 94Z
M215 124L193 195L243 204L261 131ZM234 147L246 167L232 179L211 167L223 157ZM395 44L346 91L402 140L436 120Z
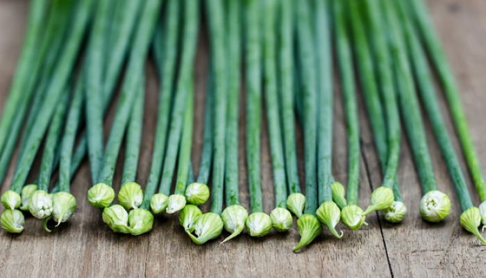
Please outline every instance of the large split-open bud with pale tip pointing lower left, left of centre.
M194 236L190 231L185 232L190 236L192 241L196 244L206 243L208 240L217 238L221 231L223 231L223 220L216 213L204 213L199 216L194 225Z

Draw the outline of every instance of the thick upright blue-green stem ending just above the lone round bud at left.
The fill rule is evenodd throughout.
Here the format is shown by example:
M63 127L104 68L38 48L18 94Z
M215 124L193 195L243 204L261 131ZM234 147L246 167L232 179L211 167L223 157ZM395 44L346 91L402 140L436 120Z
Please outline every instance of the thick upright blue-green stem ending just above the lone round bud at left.
M86 138L93 183L98 179L97 175L103 162L103 73L106 71L103 54L108 44L107 30L110 13L115 8L113 3L105 0L97 4L86 54L87 67L90 69L84 74Z

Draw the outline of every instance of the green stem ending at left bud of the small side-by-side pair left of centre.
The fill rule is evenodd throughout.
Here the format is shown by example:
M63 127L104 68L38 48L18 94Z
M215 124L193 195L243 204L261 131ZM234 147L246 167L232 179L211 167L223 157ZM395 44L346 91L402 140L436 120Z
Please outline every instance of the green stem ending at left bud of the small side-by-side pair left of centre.
M169 195L185 112L185 100L187 99L187 81L192 77L192 69L197 40L197 26L199 15L197 14L197 3L186 4L184 8L183 42L181 50L181 63L179 67L176 92L172 101L172 115L167 138L167 150L165 153L164 167L162 170L162 181L160 182L159 193Z

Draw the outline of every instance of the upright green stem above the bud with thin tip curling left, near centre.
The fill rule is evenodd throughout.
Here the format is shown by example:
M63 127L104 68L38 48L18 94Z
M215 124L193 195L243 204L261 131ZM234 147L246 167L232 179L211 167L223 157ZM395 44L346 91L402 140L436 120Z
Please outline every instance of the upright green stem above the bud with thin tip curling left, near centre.
M240 204L238 195L238 119L241 79L241 4L226 1L226 42L228 55L228 108L226 109L225 192L226 207Z

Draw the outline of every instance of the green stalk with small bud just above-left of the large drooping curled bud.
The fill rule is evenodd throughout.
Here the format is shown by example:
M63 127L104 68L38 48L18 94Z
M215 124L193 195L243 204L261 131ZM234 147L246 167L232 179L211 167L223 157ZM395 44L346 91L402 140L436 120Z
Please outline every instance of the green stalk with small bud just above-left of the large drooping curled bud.
M299 173L297 170L295 117L294 117L294 17L292 1L280 1L278 14L278 91L281 103L280 121L282 122L283 148L285 154L285 172L289 196L287 208L300 218L305 207L305 196L301 193Z

